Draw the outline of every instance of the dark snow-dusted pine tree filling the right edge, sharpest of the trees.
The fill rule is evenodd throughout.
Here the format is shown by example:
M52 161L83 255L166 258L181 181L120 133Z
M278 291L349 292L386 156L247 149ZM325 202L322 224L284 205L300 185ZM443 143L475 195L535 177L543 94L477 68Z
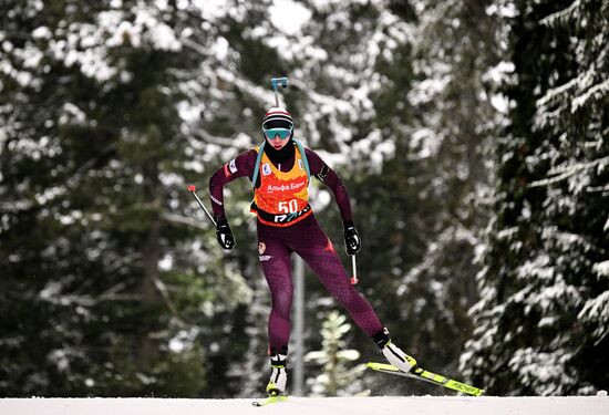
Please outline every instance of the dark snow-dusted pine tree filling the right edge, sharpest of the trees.
M586 394L609 380L609 6L507 4L510 125L462 369L491 393Z

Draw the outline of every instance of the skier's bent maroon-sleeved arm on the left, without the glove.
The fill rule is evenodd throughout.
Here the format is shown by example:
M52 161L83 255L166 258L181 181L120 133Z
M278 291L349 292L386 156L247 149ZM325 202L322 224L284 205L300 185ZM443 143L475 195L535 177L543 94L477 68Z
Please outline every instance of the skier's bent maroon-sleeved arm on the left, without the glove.
M238 177L250 177L258 153L255 149L239 154L237 157L218 168L209 178L209 199L214 218L226 217L224 210L224 186Z

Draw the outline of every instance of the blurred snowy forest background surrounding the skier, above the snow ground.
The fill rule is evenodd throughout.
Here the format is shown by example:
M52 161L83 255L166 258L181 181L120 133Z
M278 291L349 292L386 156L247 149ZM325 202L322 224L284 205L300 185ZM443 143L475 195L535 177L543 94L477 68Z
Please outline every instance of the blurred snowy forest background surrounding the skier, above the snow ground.
M186 186L209 207L285 75L400 346L494 395L609 387L608 17L607 0L1 0L0 396L264 393L249 181L225 189L230 253ZM332 195L311 191L350 269ZM310 271L306 310L307 395L446 393L364 371L376 346Z

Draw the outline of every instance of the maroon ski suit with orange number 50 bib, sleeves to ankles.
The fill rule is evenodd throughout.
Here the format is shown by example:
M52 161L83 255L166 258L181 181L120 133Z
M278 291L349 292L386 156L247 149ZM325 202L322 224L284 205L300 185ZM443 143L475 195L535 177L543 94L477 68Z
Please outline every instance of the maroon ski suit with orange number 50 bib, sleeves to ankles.
M288 147L289 146L289 147ZM273 159L272 148L265 146L256 179L252 211L257 214L260 264L271 293L268 322L270 350L287 350L290 338L290 312L293 284L290 255L296 252L313 270L321 283L349 312L368 335L383 330L370 303L350 283L334 246L319 226L308 204L307 174L293 142L287 144L287 158ZM352 221L349 196L342 180L318 154L304 148L310 174L332 190L344 222ZM238 177L251 179L258 148L239 154L209 179L214 216L225 216L224 186ZM282 215L286 214L286 215ZM283 221L288 217L289 219Z

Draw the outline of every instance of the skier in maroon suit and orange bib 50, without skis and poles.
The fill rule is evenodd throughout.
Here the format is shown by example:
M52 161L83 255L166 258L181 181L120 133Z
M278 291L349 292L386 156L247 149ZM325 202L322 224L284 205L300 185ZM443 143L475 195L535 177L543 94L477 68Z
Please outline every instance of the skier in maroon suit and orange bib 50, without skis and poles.
M401 371L411 372L416 361L391 342L389 331L370 303L350 283L332 242L308 204L312 175L334 194L344 225L347 253L355 255L361 241L342 180L314 152L293 138L292 117L286 110L270 108L265 114L262 132L262 145L239 154L214 173L209 179L209 195L218 242L224 249L233 249L235 239L225 216L223 189L237 177L246 176L252 181L251 211L258 216L258 252L272 301L268 321L271 365L268 395L283 394L288 378L286 362L293 291L291 252L307 262L355 324L372 338L385 359Z

